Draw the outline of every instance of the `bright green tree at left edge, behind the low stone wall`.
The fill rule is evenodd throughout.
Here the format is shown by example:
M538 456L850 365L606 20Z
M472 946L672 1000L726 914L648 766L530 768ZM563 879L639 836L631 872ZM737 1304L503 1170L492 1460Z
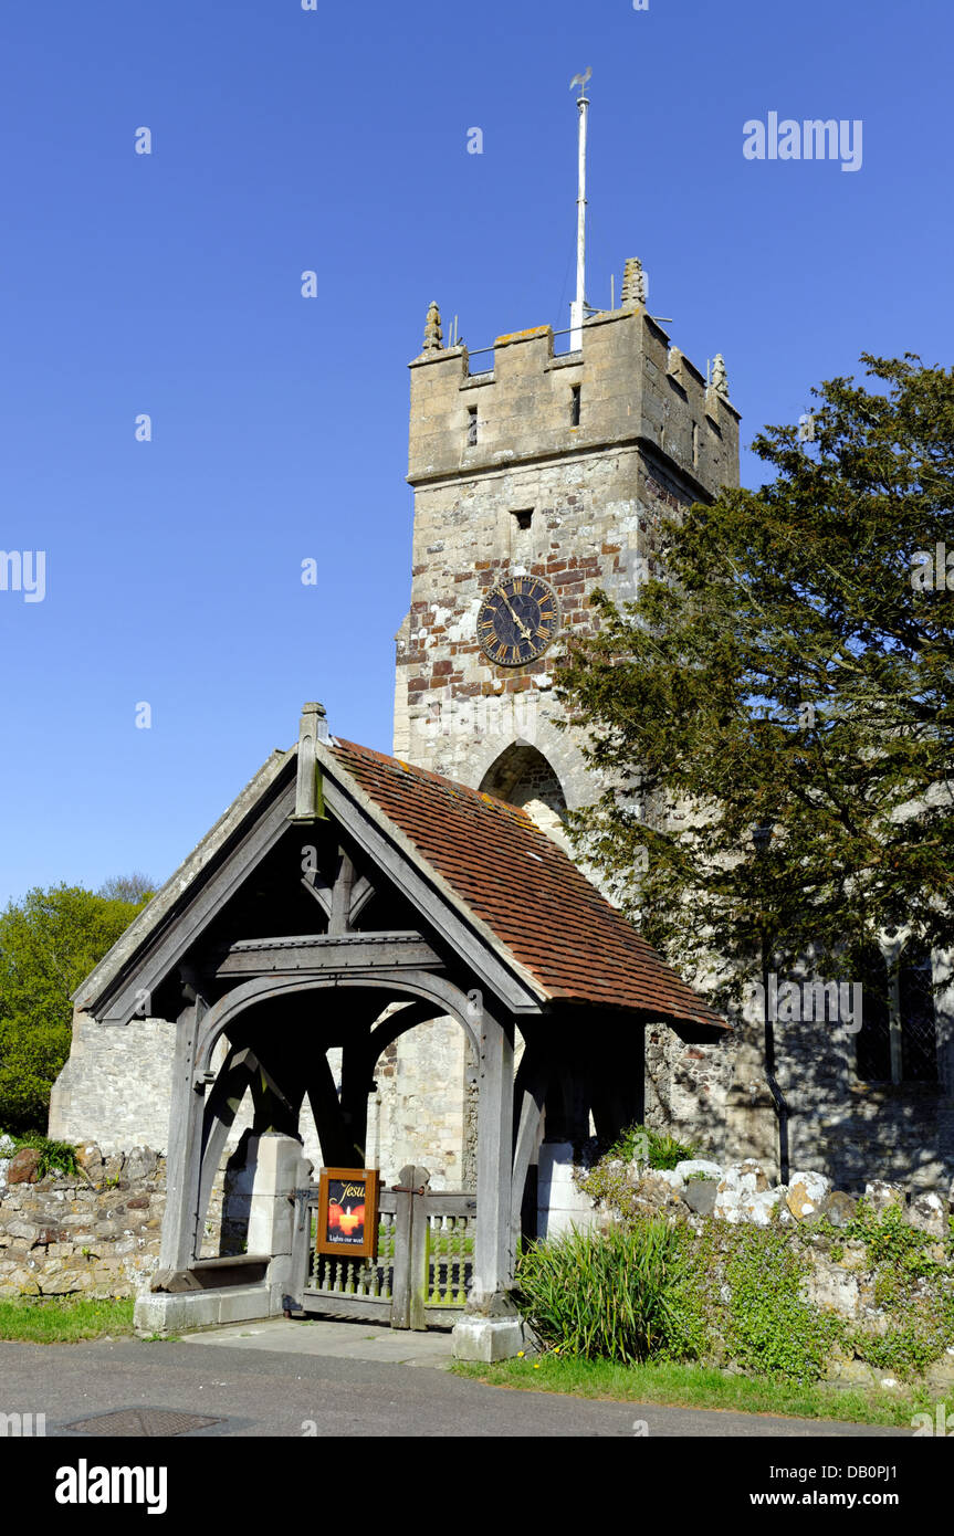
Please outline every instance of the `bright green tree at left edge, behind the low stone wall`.
M60 885L0 914L0 1127L46 1130L69 1055L71 992L141 906Z

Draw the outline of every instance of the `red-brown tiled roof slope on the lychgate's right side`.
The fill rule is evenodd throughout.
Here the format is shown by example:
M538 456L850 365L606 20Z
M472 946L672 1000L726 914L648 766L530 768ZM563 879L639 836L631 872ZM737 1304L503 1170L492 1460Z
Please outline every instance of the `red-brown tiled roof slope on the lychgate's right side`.
M332 753L547 997L728 1028L525 811L369 746Z

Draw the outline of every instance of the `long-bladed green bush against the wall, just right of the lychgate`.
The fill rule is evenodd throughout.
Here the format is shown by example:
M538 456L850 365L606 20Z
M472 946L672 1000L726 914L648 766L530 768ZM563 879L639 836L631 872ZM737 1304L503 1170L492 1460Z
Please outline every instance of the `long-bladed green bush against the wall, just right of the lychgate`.
M681 1241L665 1221L568 1232L519 1260L521 1306L541 1339L585 1359L634 1364L665 1350Z

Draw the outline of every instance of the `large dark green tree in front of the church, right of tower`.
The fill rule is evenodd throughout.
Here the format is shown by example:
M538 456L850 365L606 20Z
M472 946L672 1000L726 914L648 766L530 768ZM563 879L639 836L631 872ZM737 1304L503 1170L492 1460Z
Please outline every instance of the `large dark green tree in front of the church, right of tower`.
M874 389L831 379L808 432L756 439L774 479L661 525L562 671L619 786L578 846L673 958L771 934L843 975L882 928L954 940L954 370L862 362Z

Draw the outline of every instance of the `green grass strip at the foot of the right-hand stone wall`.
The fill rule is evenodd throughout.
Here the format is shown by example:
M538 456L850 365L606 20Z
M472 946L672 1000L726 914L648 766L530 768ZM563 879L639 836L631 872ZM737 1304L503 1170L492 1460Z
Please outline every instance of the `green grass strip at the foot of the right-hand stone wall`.
M524 1392L562 1392L575 1398L608 1398L616 1402L656 1402L684 1409L722 1409L734 1413L773 1413L779 1418L839 1419L848 1424L885 1424L908 1428L914 1413L929 1412L926 1393L874 1396L814 1384L753 1381L710 1366L616 1366L605 1359L499 1361L495 1366L455 1362L452 1372L492 1387Z

